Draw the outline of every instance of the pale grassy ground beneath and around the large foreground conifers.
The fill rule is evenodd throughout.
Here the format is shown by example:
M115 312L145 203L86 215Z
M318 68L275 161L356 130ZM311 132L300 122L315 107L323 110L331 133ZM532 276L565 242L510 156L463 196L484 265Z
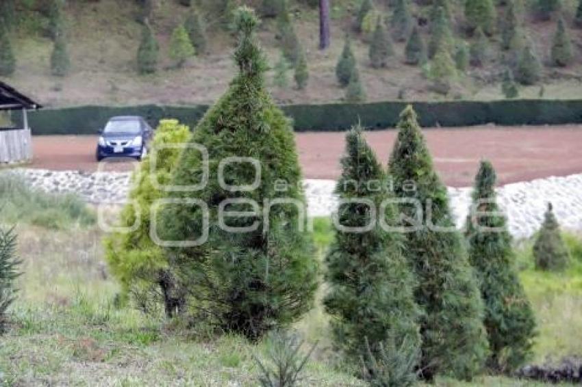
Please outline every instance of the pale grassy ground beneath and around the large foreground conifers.
M94 226L73 223L50 230L22 222L18 233L25 274L12 327L0 341L0 385L257 384L253 356L265 356L265 341L252 344L237 336L213 336L203 328L185 330L161 317L119 308L118 286L102 258L103 234ZM329 220L316 219L318 256L332 236ZM580 353L582 318L576 311L582 306L582 248L577 246L581 255L566 276L536 273L527 248L520 254L522 278L540 323L537 361ZM294 329L305 338L305 347L318 342L303 385L361 385L331 351L319 304ZM504 377L478 377L471 384L439 379L437 384L536 385Z

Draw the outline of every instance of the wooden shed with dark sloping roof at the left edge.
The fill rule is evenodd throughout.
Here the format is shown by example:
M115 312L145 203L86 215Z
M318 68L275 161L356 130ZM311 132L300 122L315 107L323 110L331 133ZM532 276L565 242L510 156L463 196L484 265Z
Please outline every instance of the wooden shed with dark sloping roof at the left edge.
M32 136L27 111L40 109L38 103L0 81L0 111L21 111L23 127L0 127L0 164L23 163L32 159Z

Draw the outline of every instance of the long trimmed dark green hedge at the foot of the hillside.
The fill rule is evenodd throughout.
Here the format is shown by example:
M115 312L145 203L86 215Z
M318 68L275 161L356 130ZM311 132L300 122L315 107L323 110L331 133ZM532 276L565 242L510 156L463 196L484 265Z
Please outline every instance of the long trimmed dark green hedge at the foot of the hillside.
M293 118L296 131L340 131L361 122L368 129L390 128L398 122L405 102L366 104L336 103L327 105L287 105L286 114ZM447 101L413 103L422 126L468 126L477 124L529 125L572 124L582 122L582 100L505 100ZM177 118L194 126L208 109L142 105L134 107L82 106L42 109L29 112L35 135L95 134L112 116L138 115L152 126L162 118ZM21 125L21 115L16 114Z

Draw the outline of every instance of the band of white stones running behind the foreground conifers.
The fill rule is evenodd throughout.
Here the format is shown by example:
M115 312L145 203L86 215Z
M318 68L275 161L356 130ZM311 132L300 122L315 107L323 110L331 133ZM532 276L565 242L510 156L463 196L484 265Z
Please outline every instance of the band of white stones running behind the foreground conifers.
M99 204L123 203L129 191L128 172L88 173L16 169L33 187L48 192L74 192L84 200ZM305 194L310 216L329 216L338 206L333 195L335 181L306 180ZM470 188L449 188L455 222L462 226L470 206ZM540 227L548 201L553 202L556 216L564 228L582 230L582 174L550 177L500 187L498 202L509 219L514 237L527 238Z

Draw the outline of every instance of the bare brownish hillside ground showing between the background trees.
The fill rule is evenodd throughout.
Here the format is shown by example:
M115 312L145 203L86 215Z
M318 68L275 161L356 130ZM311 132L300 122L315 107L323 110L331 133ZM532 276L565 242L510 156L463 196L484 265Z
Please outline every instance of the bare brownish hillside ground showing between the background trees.
M461 1L451 0L453 32L455 39L463 38L470 43L472 38L468 38L463 29L464 7ZM536 21L531 12L533 5L530 2L533 0L522 1L525 3L520 3L517 8L521 10L524 34L533 42L544 69L542 79L535 85L520 88L520 97L537 98L540 96L540 86L544 85L544 98L582 98L582 44L579 43L582 29L575 29L572 23L577 1L564 0L561 7L574 53L572 64L566 68L551 67L548 63L556 29L555 16L551 21ZM16 0L17 23L10 32L17 61L16 72L1 78L38 98L44 105L212 103L227 88L233 75L231 52L234 40L227 31L217 26L220 16L213 10L216 8L214 1L204 0L199 5L209 29L209 53L193 57L184 68L177 69L169 59L169 40L174 27L186 18L188 8L177 0L155 0L150 20L160 42L160 69L154 75L142 76L136 71L136 51L142 29L136 15L140 14L141 5L129 0L69 0L64 14L71 72L66 77L53 77L49 68L52 42L45 31L48 22L43 11L46 2ZM260 0L244 2L257 5ZM332 0L331 3L332 40L331 47L326 51L319 51L317 47L318 10L305 5L305 0L290 4L294 27L307 54L310 78L306 90L302 91L292 87L292 72L288 74L290 85L287 88L271 85L280 103L327 103L344 98L344 90L336 81L335 66L344 45L344 34L351 31L359 1ZM388 19L392 7L387 3L376 0L375 8ZM429 27L424 21L430 9L430 5L411 4L415 23L422 25L420 30L425 43L429 40ZM497 5L496 12L499 23L505 6ZM275 20L265 19L260 39L271 64L279 58L275 30ZM480 68L470 66L464 74L455 77L453 88L447 95L432 91L431 80L427 79L420 66L403 63L405 43L394 42L395 55L390 59L388 68L373 69L368 59L369 39L362 34L351 34L368 101L503 98L501 74L504 66L499 33L489 40L491 55L488 61ZM272 74L268 80L270 83Z

